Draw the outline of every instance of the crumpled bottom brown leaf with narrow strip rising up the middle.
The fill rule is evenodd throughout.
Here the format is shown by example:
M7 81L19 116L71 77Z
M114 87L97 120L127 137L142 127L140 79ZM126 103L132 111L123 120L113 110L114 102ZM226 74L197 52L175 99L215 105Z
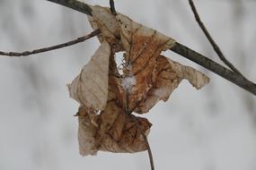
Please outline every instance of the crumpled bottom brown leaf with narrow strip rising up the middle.
M145 118L137 117L137 124L119 106L119 78L113 56L110 56L109 96L107 106L100 115L87 113L86 107L79 109L79 149L80 154L95 155L98 150L110 152L138 152L146 150L140 130L146 135L151 123ZM121 97L122 98L122 97ZM138 126L139 125L139 126Z

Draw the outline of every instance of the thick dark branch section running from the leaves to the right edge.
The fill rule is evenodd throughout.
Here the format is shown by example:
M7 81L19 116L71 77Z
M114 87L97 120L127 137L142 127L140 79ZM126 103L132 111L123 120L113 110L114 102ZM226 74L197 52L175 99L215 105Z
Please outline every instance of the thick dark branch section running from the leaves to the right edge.
M179 55L186 57L187 59L199 64L207 70L211 72L215 72L216 74L220 75L221 77L225 78L227 81L231 81L237 86L251 92L252 94L256 95L256 84L252 81L249 81L243 77L243 75L232 72L229 69L226 69L221 64L217 64L216 62L212 61L211 59L207 58L204 55L199 54L198 52L190 49L189 47L185 47L180 43L176 42L175 45L171 48L171 50Z

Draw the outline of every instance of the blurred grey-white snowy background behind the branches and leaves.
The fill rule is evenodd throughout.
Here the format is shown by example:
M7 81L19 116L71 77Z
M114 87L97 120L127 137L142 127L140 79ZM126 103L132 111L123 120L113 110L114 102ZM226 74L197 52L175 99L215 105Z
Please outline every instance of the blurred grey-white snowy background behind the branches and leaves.
M86 0L108 5L106 0ZM202 20L225 55L256 81L256 1L198 0ZM218 61L187 0L117 0L135 21ZM92 29L83 13L44 0L0 0L0 50L48 47ZM146 152L96 157L78 153L78 104L71 82L93 55L96 38L23 58L0 56L0 170L149 169ZM256 98L172 52L165 55L206 72L202 90L183 81L166 103L145 115L156 169L255 170Z

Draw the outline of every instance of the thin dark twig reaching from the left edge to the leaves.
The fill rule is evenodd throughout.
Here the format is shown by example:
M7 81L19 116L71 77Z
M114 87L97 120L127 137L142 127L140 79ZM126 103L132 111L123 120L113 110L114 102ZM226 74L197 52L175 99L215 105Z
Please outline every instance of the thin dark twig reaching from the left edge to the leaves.
M52 47L44 47L44 48L40 48L40 49L35 49L32 51L24 51L22 53L17 53L17 52L3 52L0 51L0 55L6 55L6 56L27 56L27 55L35 55L35 54L39 54L39 53L43 53L43 52L47 52L47 51L52 51L52 50L56 50L59 48L63 48L63 47L69 47L69 46L73 46L77 43L82 43L85 40L89 39L89 38L93 38L97 35L99 35L101 33L101 30L94 30L93 32L91 32L90 34L83 36L81 38L76 38L75 40L63 43L63 44L59 44L56 46L52 46Z

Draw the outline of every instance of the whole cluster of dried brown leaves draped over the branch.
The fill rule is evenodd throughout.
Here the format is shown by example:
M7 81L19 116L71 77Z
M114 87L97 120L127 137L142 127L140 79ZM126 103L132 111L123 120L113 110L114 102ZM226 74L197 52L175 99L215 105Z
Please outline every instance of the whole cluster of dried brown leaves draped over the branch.
M94 30L100 29L101 47L68 85L78 110L80 154L95 155L98 150L138 152L146 150L142 133L151 123L131 115L146 114L158 101L166 101L186 79L200 89L208 83L206 75L160 55L175 41L146 28L110 9L91 6L89 17ZM115 53L124 51L122 72Z

